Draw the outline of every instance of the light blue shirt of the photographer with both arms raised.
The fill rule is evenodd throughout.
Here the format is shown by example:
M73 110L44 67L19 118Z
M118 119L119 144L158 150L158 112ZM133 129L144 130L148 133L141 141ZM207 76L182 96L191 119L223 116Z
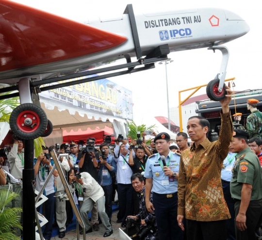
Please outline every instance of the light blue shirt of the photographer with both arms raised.
M128 149L129 144L127 143L125 147ZM114 149L115 156L118 156L119 150L120 146L116 145ZM133 155L135 154L134 151L132 151L132 153ZM126 160L124 158L126 158ZM115 162L117 166L116 182L120 184L131 184L131 176L133 175L133 171L127 164L127 162L129 163L129 153L126 156L120 154L118 158L115 158Z

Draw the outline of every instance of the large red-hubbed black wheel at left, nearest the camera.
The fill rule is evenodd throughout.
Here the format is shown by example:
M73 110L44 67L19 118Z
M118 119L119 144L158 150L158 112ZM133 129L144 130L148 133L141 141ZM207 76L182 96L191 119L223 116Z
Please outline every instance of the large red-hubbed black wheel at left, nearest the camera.
M40 137L47 130L48 119L41 107L24 103L13 110L9 124L17 137L31 140Z

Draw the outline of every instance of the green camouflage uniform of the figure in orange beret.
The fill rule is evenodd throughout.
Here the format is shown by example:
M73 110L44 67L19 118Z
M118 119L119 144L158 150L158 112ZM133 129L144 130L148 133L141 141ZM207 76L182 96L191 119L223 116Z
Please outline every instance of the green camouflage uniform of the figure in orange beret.
M247 117L246 129L249 134L249 138L262 138L262 112L256 110Z

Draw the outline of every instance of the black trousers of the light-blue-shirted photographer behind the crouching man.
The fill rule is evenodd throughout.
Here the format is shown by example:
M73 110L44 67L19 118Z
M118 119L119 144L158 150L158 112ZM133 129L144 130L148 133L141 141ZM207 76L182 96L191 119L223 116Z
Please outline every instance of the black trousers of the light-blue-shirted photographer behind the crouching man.
M122 223L126 223L127 216L132 215L133 211L133 187L132 184L117 184L117 194L119 201L119 212Z

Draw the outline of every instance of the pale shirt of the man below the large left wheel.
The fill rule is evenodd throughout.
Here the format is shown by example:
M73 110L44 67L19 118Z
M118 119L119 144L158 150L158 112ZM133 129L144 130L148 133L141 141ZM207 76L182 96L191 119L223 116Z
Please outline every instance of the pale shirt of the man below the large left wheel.
M18 155L19 154L19 155ZM18 144L13 145L13 148L11 152L8 154L7 159L10 164L10 173L16 178L22 178L22 170L24 169L24 166L22 164L22 160L24 160L25 154L24 149L22 149L22 153L18 153Z

